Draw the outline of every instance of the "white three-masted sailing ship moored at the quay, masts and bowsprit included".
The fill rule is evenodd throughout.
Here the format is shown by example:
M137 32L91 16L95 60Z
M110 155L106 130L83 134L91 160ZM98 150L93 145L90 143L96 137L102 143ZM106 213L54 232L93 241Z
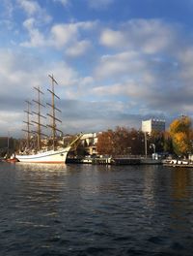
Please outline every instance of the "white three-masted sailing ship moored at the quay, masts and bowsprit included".
M33 100L33 102L37 105L38 111L37 112L31 112L31 102L26 101L27 103L27 110L24 111L27 114L27 118L24 121L27 128L23 131L27 134L27 144L26 147L20 151L18 154L15 154L15 158L19 162L26 162L26 163L65 163L67 159L67 154L69 152L69 149L72 144L75 144L82 134L78 135L76 139L69 144L66 147L57 145L57 133L60 132L62 134L62 131L58 129L57 123L62 122L60 119L56 117L56 112L61 112L58 108L56 108L55 99L60 99L57 94L55 93L55 84L58 84L58 82L54 79L53 75L50 76L51 79L51 89L47 89L47 91L51 94L51 104L46 103L46 105L50 108L50 112L47 113L49 116L51 122L50 124L44 125L41 122L42 118L46 118L41 114L41 107L44 107L44 105L41 104L41 94L42 91L40 87L34 87L35 90L38 92L38 99ZM37 120L31 120L31 115L36 115ZM31 126L36 126L37 129L35 131L31 131ZM45 137L45 135L41 132L43 128L50 128L52 131L52 135L50 138L47 138L47 142L49 142L49 145L41 146L41 138L42 136ZM34 136L35 135L35 136ZM32 140L32 138L34 140ZM36 140L35 140L36 139ZM51 140L51 145L50 145Z

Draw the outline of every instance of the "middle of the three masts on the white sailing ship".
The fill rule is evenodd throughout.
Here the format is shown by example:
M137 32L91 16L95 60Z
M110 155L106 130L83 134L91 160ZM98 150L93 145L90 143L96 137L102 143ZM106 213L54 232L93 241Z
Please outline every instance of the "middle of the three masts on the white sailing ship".
M32 121L33 123L37 124L37 131L35 131L35 133L37 133L37 138L38 138L38 150L41 149L41 127L46 127L45 125L41 124L41 117L45 118L45 116L41 115L41 107L44 107L44 105L41 104L41 94L42 91L40 89L40 86L38 87L34 87L35 90L37 90L38 92L38 100L33 100L33 102L35 102L38 105L38 112L33 112L37 115L37 121Z

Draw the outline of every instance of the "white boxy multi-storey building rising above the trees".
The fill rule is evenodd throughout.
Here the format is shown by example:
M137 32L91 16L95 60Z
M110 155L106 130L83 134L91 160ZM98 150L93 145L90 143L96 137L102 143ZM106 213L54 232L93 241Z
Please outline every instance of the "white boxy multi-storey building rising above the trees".
M150 119L142 121L142 132L151 134L152 131L164 132L165 120Z

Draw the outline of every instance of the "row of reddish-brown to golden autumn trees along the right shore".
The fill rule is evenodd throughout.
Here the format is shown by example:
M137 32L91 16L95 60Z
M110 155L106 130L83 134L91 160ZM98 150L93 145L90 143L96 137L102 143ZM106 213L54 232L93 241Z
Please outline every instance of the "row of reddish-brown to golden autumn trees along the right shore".
M147 146L145 146L145 140ZM165 152L177 156L187 156L193 151L192 121L188 116L175 119L165 132L152 131L143 133L136 129L117 127L101 132L97 137L96 150L98 154L107 155L145 155Z

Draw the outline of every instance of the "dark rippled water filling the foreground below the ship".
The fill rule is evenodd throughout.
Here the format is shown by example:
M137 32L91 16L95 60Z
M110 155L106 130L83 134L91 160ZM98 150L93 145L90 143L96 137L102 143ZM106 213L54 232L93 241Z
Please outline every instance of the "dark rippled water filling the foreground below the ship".
M193 170L0 163L0 255L193 255Z

